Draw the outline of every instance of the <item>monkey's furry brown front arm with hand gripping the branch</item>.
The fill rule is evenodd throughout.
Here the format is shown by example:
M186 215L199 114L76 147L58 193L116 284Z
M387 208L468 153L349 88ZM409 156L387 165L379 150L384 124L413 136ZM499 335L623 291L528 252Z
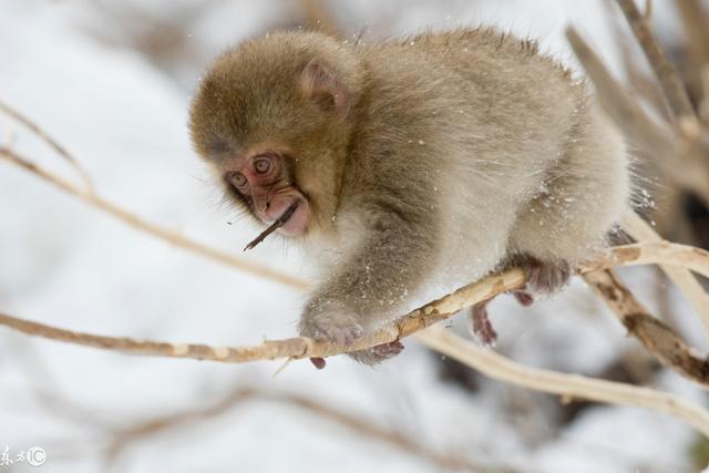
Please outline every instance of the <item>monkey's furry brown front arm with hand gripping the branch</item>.
M428 206L412 207L384 191L374 202L363 200L351 209L366 215L361 220L367 227L306 306L300 321L302 335L352 343L363 333L391 323L409 302L409 295L434 268L432 248L438 227L428 225ZM341 215L346 214L343 210ZM376 364L402 349L399 341L393 341L349 354L361 363ZM319 368L325 366L321 359L314 362Z

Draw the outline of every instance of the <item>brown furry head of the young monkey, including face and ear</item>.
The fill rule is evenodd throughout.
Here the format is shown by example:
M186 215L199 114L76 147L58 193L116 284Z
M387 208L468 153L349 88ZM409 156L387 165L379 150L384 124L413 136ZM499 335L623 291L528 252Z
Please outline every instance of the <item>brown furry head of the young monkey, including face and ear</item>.
M319 33L276 33L222 54L194 97L197 153L227 196L263 224L304 235L338 206L363 68L347 44Z

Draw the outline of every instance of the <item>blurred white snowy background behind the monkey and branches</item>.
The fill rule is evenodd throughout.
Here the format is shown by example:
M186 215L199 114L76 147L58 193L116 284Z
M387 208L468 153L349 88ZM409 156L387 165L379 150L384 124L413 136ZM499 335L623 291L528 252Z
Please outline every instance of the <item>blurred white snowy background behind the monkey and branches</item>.
M348 33L364 29L366 40L493 23L540 39L544 51L568 64L563 31L573 23L618 70L599 0L331 3ZM655 18L671 32L671 9L656 3ZM191 93L205 64L228 44L301 21L295 1L0 0L0 100L68 147L103 197L239 253L254 232L219 205L191 150ZM0 143L76 181L2 114ZM277 239L248 258L308 275ZM654 311L669 307L682 335L706 349L691 310L653 269L621 274ZM0 311L90 332L239 346L295 335L302 299L131 229L0 161ZM507 299L491 306L501 335L495 349L505 356L707 404L702 391L659 369L627 339L583 282L530 309ZM0 453L42 446L48 459L39 470L76 473L442 471L431 460L435 454L473 465L460 471L479 472L700 469L692 453L699 436L669 417L564 405L490 381L413 340L405 345L402 356L374 370L339 357L325 371L294 362L274 378L278 362L127 357L2 329ZM225 401L239 389L253 393ZM315 407L304 407L304 399ZM214 405L223 409L179 418ZM361 425L338 421L331 411ZM173 414L179 421L164 429L140 428ZM137 434L125 434L136 425ZM368 433L372 426L383 438ZM16 463L0 465L3 471L33 469Z

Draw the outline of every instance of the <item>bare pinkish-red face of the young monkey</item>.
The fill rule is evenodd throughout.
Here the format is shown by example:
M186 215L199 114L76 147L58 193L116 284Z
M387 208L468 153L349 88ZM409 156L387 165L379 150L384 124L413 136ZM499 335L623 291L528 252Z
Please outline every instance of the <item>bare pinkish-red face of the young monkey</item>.
M224 172L233 191L266 225L273 224L297 202L298 207L278 232L299 236L308 229L310 206L295 184L288 164L280 154L266 152L227 160Z

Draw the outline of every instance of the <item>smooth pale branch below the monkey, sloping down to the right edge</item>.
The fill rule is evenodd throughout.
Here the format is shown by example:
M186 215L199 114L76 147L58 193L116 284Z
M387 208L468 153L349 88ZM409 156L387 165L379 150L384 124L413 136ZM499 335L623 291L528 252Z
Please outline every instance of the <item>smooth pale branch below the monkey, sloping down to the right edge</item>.
M565 374L516 363L440 326L419 332L427 347L497 381L535 391L609 404L631 405L676 417L709 438L709 411L678 395L625 383Z

